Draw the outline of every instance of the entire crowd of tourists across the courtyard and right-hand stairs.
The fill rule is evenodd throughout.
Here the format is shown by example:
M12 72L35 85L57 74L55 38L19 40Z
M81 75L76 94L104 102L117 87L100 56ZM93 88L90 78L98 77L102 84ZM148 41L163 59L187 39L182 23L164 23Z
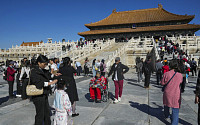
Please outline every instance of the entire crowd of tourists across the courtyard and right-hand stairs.
M165 38L159 39L157 43L160 59L156 62L153 61L155 57L152 55L148 55L145 61L143 58L136 58L138 84L143 81L144 88L150 89L151 76L154 72L156 73L157 85L163 86L164 118L171 119L172 125L178 125L181 93L189 83L188 77L196 76L197 85L194 93L195 103L199 104L198 124L200 124L200 71L197 76L197 62L188 56L187 51L181 50L178 43L173 43ZM84 44L87 43L79 43L79 46ZM48 59L44 55L39 55L31 60L24 58L21 63L7 60L6 66L4 79L9 85L9 98L15 98L13 85L16 79L16 96L24 100L30 99L35 105L35 125L51 124L48 96L52 94L55 96L52 106L55 109L54 125L73 123L69 120L69 116L79 115L76 112L76 102L79 101L79 97L74 77L81 76L83 70L85 77L92 74L89 82L89 102L101 103L103 96L108 92L108 78L112 75L115 85L115 98L113 99L115 104L121 101L124 74L129 71L129 68L120 62L120 57L115 58L115 63L109 71L104 59L93 59L90 63L86 58L82 68L81 62L73 62L69 57L59 61L57 58ZM16 77L15 74L17 74ZM26 90L28 85L35 85L37 89L43 89L43 94L28 96ZM170 108L172 114L169 112Z

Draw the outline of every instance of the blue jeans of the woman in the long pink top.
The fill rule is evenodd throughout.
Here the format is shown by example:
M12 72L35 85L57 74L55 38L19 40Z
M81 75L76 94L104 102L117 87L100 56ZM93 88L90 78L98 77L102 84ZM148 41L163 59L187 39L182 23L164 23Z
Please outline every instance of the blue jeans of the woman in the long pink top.
M164 106L164 115L166 118L170 116L169 113L169 107ZM172 125L178 125L178 120L179 120L179 108L172 108L172 114L170 116L171 119L171 124Z

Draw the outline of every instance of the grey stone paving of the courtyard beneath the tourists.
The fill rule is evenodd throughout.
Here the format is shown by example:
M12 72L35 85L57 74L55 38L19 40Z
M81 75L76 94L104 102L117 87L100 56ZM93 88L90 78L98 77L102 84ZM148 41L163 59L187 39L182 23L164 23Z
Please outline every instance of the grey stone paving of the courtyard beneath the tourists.
M153 74L150 89L144 89L143 83L137 83L134 69L125 74L122 101L113 104L114 83L110 80L110 100L108 102L88 102L88 83L90 77L76 78L80 101L77 102L78 117L73 118L74 125L165 125L170 121L163 118L161 86L156 85ZM180 125L197 125L197 105L194 104L193 90L196 77L190 77L182 94ZM8 85L0 82L0 125L33 125L35 107L29 100L5 99L8 96ZM50 105L53 96L49 97ZM3 106L2 106L3 105ZM53 120L53 116L52 116Z

